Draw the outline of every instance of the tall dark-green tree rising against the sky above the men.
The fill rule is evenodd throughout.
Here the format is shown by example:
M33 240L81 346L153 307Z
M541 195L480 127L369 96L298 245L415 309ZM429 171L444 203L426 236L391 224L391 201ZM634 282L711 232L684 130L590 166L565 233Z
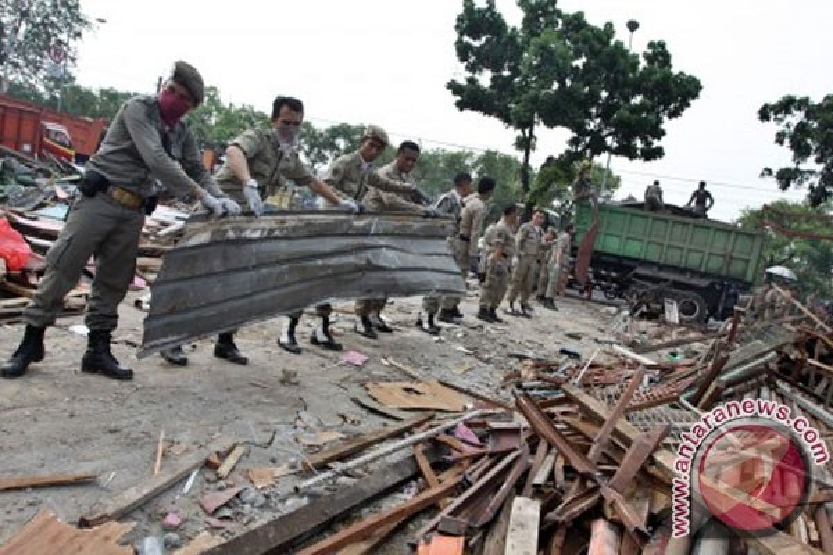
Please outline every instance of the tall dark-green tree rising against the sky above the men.
M631 160L663 156L657 141L667 120L699 96L696 77L673 72L664 42L640 57L615 40L611 23L596 27L556 0L517 0L523 18L510 27L494 0L463 0L456 20L457 58L467 76L446 87L460 110L496 117L517 131L521 191L531 189L529 160L538 126L571 131L565 156L610 152Z

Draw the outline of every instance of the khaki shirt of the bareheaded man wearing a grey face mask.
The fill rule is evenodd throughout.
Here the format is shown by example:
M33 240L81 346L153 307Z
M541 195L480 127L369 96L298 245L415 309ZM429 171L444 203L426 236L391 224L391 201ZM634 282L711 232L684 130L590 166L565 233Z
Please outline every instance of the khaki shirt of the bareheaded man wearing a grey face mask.
M246 165L252 179L257 180L262 198L266 199L286 186L283 178L291 179L298 185L308 186L315 176L301 161L301 156L294 149L284 152L277 140L277 131L270 129L250 129L243 131L231 143L246 156ZM228 162L217 171L217 182L235 201L245 201L242 181L232 172Z

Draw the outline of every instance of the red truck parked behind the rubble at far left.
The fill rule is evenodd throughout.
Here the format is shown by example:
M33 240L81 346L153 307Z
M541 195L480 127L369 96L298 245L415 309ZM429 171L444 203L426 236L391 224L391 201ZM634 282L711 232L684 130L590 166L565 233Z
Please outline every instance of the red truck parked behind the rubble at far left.
M48 159L82 163L92 156L107 128L103 118L77 117L0 94L0 145Z

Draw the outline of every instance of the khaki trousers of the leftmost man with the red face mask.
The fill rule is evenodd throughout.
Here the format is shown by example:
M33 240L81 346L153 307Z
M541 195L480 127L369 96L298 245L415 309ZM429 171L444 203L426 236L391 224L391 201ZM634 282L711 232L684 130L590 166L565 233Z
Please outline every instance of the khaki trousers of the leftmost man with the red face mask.
M144 221L142 207L127 208L103 193L77 199L47 252L46 275L23 311L23 321L38 328L54 324L64 296L77 285L92 256L96 275L84 323L94 331L115 330L118 305L136 271Z

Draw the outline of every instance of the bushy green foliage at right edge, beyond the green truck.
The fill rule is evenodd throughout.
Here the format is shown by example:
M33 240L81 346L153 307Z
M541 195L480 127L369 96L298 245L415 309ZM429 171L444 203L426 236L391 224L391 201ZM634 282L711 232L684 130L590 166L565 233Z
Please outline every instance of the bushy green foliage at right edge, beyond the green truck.
M789 217L767 214L764 209L746 209L741 214L741 227L750 230L764 229L767 221L777 219L779 225L790 230L818 235L833 235L833 219L828 215L831 206L825 203L814 207L791 201L775 201L770 205L776 211L786 212ZM831 270L833 270L833 241L823 239L791 238L774 230L768 230L764 260L766 266L785 265L799 279L801 290L806 293L818 291L822 295L833 295Z

